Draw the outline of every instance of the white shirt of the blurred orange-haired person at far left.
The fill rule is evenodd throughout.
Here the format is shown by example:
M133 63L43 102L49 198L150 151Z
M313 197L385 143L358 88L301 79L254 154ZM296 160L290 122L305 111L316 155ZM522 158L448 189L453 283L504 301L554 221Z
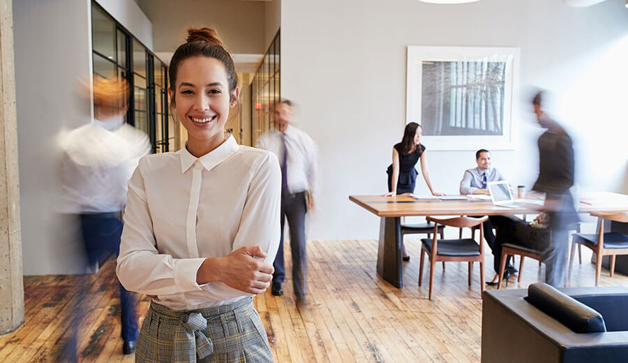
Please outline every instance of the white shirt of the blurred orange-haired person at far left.
M116 117L62 133L59 142L63 151L60 212L121 211L128 179L151 149L146 133Z

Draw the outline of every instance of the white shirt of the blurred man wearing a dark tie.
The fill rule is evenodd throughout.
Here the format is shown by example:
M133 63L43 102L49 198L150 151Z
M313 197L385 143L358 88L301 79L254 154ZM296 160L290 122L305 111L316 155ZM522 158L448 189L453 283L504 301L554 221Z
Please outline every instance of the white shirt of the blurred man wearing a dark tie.
M290 125L285 129L285 133L273 128L257 140L255 147L272 151L281 162L285 152L282 138L285 138L285 147L287 148L288 191L290 193L310 191L316 195L317 147L314 140L305 131Z

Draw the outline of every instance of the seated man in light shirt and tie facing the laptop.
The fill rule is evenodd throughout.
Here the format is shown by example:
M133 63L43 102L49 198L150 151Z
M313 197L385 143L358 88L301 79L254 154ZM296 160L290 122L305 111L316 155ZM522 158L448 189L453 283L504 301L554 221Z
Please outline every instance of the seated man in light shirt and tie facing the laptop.
M488 189L486 186L488 182L500 182L504 179L502 173L495 169L491 168L491 153L486 149L479 149L475 153L475 162L477 163L477 168L472 168L465 170L465 175L460 182L460 193L461 194L484 194L489 195ZM486 243L489 247L491 247L491 251L493 251L493 255L495 255L495 235L493 235L493 224L498 225L498 220L500 220L500 216L489 216L488 220L482 224L484 228L484 238L486 239ZM501 250L501 248L500 248ZM498 269L495 269L495 272L499 272L499 263L497 264ZM510 259L507 261L506 269L510 274L514 274L517 270L510 265Z

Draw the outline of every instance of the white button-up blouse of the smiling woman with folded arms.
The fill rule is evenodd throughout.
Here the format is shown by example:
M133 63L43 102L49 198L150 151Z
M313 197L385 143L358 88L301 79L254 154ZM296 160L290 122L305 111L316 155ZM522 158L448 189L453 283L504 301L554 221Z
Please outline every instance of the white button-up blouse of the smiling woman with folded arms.
M204 258L279 246L281 170L269 151L233 137L200 158L187 149L145 156L128 182L117 275L131 291L173 310L229 304L246 292L196 283Z

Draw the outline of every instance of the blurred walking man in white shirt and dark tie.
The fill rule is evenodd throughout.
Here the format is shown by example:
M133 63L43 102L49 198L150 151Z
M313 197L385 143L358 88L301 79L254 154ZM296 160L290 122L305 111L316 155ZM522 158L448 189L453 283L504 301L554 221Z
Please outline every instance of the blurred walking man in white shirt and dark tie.
M287 218L292 251L292 286L297 302L305 303L308 274L305 216L308 210L314 208L317 147L305 131L291 125L294 116L291 101L278 103L273 116L275 129L264 133L256 145L276 154L281 165L281 237L273 265L275 272L271 292L276 296L283 295L283 225Z

